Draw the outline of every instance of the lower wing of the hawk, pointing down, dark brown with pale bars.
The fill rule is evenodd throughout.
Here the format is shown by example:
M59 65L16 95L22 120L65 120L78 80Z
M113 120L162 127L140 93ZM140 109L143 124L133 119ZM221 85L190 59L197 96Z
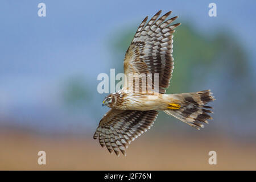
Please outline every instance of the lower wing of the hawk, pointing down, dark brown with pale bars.
M101 147L106 146L110 154L119 150L126 155L128 144L146 132L154 124L158 111L110 109L101 119L94 139L99 139Z

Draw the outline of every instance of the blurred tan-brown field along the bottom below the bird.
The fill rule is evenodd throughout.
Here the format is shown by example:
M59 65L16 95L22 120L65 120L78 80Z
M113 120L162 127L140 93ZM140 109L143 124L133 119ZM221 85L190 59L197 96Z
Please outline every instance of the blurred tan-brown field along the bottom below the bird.
M72 135L34 135L5 130L0 134L1 170L255 170L256 146L220 137L142 135L134 140L127 156L117 158L98 141ZM47 164L37 164L38 151L47 154ZM208 152L217 152L217 165L208 164Z

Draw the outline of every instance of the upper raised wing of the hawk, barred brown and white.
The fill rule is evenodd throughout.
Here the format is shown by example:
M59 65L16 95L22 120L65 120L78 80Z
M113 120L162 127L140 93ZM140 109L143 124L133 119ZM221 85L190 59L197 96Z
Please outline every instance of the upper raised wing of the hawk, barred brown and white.
M158 73L159 93L165 93L165 89L170 84L172 69L174 69L172 38L174 29L180 23L170 26L177 16L166 20L171 14L169 11L158 19L160 13L161 11L156 13L147 24L146 17L138 27L133 41L126 51L123 69L126 77L129 77L129 73L152 73L152 81L154 81L154 73ZM128 78L125 80L126 89L129 87L128 80Z

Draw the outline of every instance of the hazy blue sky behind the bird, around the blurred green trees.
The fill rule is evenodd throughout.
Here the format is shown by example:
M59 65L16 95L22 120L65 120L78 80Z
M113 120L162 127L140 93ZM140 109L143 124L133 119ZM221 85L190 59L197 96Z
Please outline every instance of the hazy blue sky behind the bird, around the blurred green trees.
M46 17L38 16L40 2L46 3ZM210 2L217 5L217 17L208 16ZM172 10L179 22L189 21L205 35L229 31L246 48L255 70L255 5L255 1L1 1L0 116L31 127L38 126L32 122L35 118L43 119L49 121L46 128L67 129L74 116L67 119L60 109L61 83L81 75L96 90L97 75L108 70L113 56L110 38L125 28L134 26L135 31L146 15L160 9ZM97 102L103 97L94 95ZM89 114L76 117L95 119ZM52 124L57 118L68 122Z

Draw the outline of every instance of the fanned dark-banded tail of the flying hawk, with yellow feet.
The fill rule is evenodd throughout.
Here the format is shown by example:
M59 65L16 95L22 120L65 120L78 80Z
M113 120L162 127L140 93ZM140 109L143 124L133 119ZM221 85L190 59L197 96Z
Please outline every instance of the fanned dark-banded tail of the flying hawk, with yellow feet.
M208 102L214 101L210 90L203 90L195 93L170 94L170 103L168 103L165 113L174 116L180 121L200 130L204 127L203 123L208 123L207 119L212 119L209 113L213 113L206 106Z

